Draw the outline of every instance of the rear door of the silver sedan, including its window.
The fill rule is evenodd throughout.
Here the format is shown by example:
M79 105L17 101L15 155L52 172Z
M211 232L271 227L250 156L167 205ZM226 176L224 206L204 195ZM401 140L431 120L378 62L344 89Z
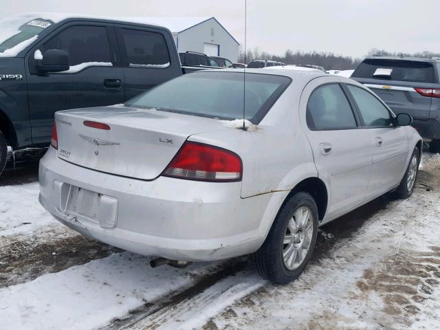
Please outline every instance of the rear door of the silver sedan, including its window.
M304 89L302 124L314 153L318 176L327 185L326 220L360 206L365 199L373 155L369 133L361 129L338 78L312 80Z

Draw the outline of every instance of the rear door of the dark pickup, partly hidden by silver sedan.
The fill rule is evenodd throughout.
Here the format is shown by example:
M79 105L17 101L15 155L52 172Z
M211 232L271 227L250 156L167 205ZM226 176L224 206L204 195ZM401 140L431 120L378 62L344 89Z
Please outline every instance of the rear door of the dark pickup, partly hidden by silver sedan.
M125 100L181 75L180 63L171 63L168 45L174 41L163 30L115 25L125 77ZM185 62L189 58L184 54Z

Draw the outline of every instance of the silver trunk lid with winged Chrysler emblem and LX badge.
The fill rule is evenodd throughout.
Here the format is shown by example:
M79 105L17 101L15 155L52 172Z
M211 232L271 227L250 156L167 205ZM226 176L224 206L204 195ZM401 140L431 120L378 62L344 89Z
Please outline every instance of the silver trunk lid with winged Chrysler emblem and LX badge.
M58 157L114 175L158 177L186 139L221 129L219 120L124 106L59 111ZM109 125L109 130L85 126Z

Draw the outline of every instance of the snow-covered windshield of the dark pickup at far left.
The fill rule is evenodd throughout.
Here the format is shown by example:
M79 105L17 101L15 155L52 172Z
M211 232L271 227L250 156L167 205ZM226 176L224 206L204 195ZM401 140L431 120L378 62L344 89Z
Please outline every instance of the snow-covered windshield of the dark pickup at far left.
M52 24L52 21L25 16L0 20L0 57L17 56Z

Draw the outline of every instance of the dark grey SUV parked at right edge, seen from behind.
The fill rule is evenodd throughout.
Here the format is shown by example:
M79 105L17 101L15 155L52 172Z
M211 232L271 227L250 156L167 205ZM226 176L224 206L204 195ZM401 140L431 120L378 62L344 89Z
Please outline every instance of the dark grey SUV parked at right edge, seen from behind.
M440 153L440 58L371 56L351 78L373 90L397 113L410 113L412 126Z

